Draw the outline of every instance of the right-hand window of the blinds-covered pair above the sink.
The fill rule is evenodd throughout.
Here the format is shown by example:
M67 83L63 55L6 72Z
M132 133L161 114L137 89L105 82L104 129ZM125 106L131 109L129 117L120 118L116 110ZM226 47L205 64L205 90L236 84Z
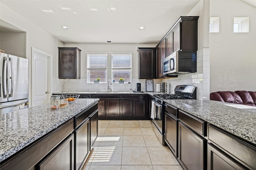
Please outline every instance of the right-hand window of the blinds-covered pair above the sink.
M119 78L124 83L131 82L132 53L111 53L112 82L118 82Z

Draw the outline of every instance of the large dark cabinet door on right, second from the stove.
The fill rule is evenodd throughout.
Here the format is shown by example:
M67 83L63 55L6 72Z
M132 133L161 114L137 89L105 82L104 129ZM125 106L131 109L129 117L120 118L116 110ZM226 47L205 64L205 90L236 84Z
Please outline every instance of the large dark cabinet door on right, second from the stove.
M178 157L182 168L188 170L206 169L207 140L188 129L182 123L179 123L178 138Z

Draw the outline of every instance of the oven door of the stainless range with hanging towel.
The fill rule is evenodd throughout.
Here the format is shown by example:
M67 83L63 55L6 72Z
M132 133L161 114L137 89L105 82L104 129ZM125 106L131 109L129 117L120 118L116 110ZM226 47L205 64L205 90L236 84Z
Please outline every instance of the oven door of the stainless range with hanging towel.
M154 108L154 119L152 119L153 123L156 125L158 130L162 133L162 120L163 120L163 114L162 114L162 105L158 104L157 102L152 100L152 104L154 105L152 108Z

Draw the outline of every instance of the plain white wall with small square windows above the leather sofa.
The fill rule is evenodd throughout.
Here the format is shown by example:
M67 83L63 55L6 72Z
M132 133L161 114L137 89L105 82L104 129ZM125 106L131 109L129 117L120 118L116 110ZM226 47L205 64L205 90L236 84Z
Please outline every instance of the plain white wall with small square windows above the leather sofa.
M241 0L211 0L210 17L220 32L210 33L210 92L256 91L256 8ZM233 33L233 18L249 17L249 33Z

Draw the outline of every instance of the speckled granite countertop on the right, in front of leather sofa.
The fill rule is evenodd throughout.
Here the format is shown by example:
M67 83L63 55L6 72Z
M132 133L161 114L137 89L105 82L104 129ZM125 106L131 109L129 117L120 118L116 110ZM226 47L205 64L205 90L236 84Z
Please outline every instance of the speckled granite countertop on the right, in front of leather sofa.
M208 123L256 144L256 107L214 100L164 100Z

